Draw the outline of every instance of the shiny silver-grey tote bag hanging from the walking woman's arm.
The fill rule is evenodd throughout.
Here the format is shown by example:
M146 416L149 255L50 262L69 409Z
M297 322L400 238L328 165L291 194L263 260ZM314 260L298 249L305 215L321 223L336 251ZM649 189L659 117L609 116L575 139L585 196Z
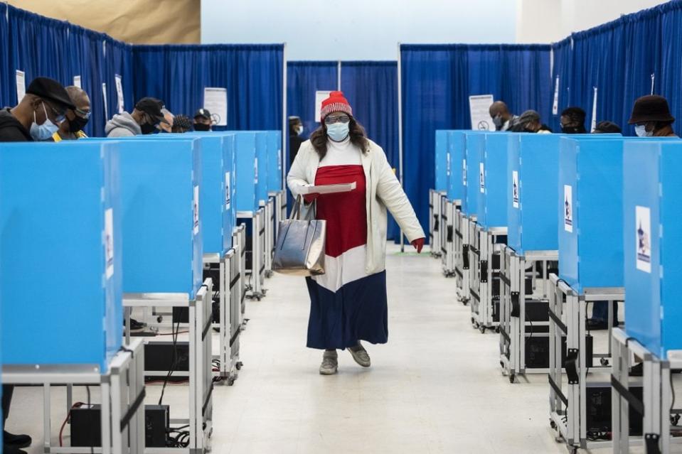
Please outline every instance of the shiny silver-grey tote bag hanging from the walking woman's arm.
M289 276L319 276L324 274L326 221L302 220L302 204L299 195L289 219L279 221L272 271Z

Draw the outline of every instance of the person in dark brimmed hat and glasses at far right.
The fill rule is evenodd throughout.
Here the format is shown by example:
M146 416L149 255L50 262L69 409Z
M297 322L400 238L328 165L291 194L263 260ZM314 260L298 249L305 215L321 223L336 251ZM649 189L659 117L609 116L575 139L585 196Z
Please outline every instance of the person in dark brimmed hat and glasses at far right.
M650 94L634 102L628 124L634 124L639 137L676 137L673 121L666 98Z

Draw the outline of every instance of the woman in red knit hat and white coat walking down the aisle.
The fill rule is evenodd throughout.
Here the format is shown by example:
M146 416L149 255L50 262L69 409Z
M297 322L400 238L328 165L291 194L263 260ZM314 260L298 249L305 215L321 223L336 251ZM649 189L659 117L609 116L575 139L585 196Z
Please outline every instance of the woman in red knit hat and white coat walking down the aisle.
M336 374L336 350L370 367L361 340L388 342L386 211L421 252L425 234L380 146L367 139L342 92L321 105L321 125L304 141L287 185L294 196L308 185L356 183L347 193L305 195L326 220L326 274L306 279L310 296L307 346L323 350L319 373Z

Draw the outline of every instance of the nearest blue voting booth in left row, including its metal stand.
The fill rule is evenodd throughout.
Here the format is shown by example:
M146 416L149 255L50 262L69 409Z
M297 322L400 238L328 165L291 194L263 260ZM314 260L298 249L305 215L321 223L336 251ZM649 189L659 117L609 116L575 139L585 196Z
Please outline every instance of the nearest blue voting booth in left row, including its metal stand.
M142 453L144 416L132 402L144 396L144 351L141 342L122 351L119 157L116 144L0 144L2 379L43 386L48 428L55 380L100 387L108 452Z

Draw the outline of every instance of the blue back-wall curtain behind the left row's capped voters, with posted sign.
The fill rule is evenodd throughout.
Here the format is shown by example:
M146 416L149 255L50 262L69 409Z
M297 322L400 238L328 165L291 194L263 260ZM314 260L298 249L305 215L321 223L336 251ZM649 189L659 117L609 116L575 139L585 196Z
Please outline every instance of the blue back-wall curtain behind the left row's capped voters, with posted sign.
M205 87L223 87L228 124L215 129L281 129L283 53L283 45L136 45L134 99L157 97L191 117Z

